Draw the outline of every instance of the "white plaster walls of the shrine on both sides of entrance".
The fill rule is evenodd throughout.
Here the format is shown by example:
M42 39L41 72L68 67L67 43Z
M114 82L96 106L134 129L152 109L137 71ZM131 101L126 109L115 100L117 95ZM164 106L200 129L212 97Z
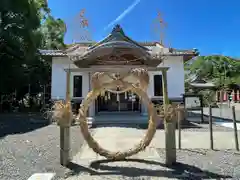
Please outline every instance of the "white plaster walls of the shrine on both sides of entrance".
M167 80L168 80L168 96L170 98L180 97L181 94L184 93L184 66L183 66L183 58L181 56L171 56L166 57L163 63L159 65L159 67L165 66L169 67L167 72ZM72 64L67 57L54 57L52 60L52 99L65 99L66 95L66 72L64 69L67 68L76 68L77 67ZM149 71L150 84L148 86L147 92L148 95L154 97L154 85L153 85L153 75L161 74L159 71ZM89 84L89 73L88 72L72 72L71 73L71 87L70 94L73 94L73 76L74 75L82 75L83 76L83 98L86 97L87 93L91 89L91 85ZM144 107L142 107L144 108ZM94 105L90 107L90 114L94 114ZM145 111L145 110L143 110Z

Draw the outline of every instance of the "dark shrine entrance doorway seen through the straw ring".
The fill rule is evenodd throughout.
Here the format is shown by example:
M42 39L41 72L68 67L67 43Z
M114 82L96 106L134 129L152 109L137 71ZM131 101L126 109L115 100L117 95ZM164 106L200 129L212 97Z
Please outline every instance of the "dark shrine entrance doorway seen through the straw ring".
M131 92L112 93L105 92L96 100L96 112L140 112L141 103L136 94Z

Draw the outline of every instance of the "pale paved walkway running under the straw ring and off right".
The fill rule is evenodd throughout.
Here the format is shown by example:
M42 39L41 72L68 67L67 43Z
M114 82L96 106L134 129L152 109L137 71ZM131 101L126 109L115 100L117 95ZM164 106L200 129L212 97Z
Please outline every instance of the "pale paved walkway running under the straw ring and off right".
M94 133L94 138L105 148L111 151L122 151L133 147L144 136L145 130L134 128L116 128L116 127L104 127L97 128ZM178 134L178 133L176 133ZM158 130L155 138L150 146L143 152L134 155L134 159L144 159L146 161L158 161L164 163L163 156L158 154L158 148L164 148L164 131ZM240 132L239 132L240 137ZM209 132L190 132L182 131L182 148L209 148ZM214 132L214 147L216 149L234 149L233 132ZM91 168L90 164L97 160L103 160L101 157L94 153L87 145L85 145L81 152L73 157L73 164L78 169L76 175L70 176L67 180L101 180L101 179L128 179L125 177L127 173L130 173L131 168L139 169L139 173L142 174L142 179L149 179L146 173L141 171L154 170L155 172L166 171L166 167L159 166L159 163L140 163L140 162L108 162L107 166L101 164L101 170ZM106 164L106 163L104 163ZM126 171L123 175L118 171L119 168L122 171ZM150 179L169 179L169 177L160 177L161 174L150 177ZM173 178L172 178L173 179Z

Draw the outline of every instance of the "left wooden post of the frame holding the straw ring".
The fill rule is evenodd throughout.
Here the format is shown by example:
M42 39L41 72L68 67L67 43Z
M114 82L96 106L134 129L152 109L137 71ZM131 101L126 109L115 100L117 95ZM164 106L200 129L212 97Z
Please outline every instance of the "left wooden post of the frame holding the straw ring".
M70 102L70 70L66 71L66 97L65 103ZM67 116L70 121L70 112ZM70 126L60 126L60 164L67 166L70 162Z

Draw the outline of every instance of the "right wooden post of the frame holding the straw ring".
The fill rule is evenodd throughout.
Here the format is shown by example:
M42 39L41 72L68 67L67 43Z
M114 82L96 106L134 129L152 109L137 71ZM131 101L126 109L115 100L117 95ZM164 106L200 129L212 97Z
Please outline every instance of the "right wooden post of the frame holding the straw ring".
M165 69L162 70L162 82L163 82L163 105L165 107L164 111L166 111L166 106L169 104L169 99L167 88L167 70ZM166 119L164 119L164 129L165 129L166 165L172 165L176 163L175 119L172 121L167 121Z

